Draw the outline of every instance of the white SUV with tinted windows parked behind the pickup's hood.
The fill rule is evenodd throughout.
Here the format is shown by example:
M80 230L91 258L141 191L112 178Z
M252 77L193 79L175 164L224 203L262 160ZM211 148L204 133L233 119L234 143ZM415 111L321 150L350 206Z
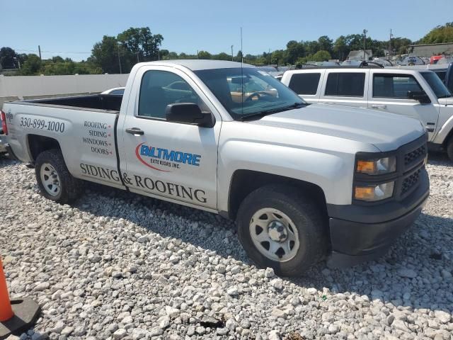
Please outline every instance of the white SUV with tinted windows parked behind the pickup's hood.
M356 106L420 119L430 149L453 160L453 96L434 72L329 67L285 72L282 83L309 103Z

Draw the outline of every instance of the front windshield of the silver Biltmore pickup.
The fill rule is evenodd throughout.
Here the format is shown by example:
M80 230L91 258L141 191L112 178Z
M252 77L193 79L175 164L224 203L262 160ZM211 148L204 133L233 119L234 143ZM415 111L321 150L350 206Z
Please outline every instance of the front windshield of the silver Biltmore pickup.
M195 74L234 120L305 104L287 86L255 67L202 69Z

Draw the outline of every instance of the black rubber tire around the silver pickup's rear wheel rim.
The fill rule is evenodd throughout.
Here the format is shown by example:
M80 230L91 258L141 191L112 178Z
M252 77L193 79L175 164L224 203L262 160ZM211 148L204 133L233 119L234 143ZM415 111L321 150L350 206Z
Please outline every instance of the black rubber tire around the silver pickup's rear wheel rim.
M59 193L57 193L57 195L55 196L50 195L50 193L48 193L45 189L44 183L42 183L42 164L50 164L54 167L55 171L57 171L60 189ZM42 196L49 200L54 200L57 203L65 204L76 200L76 198L78 198L81 194L83 184L81 181L75 179L71 174L69 174L69 170L64 163L62 152L59 149L46 150L44 152L41 152L38 157L36 157L35 175Z

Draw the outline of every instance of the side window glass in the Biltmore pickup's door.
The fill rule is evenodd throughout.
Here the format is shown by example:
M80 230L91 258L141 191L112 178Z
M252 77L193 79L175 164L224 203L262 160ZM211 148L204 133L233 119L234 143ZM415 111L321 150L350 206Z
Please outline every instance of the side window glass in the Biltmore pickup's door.
M195 103L204 106L200 97L183 78L166 71L148 71L143 75L139 94L140 117L165 119L167 105Z

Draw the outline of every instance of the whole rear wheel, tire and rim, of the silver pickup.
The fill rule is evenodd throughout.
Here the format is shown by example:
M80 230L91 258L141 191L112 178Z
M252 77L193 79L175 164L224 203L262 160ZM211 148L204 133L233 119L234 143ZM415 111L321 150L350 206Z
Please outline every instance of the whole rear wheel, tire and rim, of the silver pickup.
M41 152L36 158L36 180L42 196L58 203L69 203L79 197L81 181L69 174L59 149Z

